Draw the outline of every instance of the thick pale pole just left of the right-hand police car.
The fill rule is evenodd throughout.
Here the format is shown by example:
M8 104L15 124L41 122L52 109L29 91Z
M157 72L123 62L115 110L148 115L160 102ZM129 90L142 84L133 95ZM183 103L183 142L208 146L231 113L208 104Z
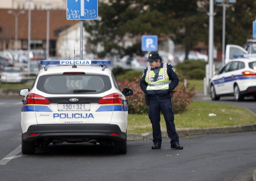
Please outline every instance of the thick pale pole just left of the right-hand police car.
M212 78L212 64L213 64L213 0L210 0L209 4L210 12L209 12L209 45L208 45L208 59L209 59L209 79ZM209 80L207 80L209 81Z

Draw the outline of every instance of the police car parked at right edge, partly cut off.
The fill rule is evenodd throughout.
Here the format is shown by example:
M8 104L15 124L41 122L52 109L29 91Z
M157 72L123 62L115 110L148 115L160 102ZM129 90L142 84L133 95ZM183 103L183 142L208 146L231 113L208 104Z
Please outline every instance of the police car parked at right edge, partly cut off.
M212 77L210 93L212 100L219 100L221 96L234 96L236 101L245 96L256 99L256 58L244 54L228 62L218 75Z

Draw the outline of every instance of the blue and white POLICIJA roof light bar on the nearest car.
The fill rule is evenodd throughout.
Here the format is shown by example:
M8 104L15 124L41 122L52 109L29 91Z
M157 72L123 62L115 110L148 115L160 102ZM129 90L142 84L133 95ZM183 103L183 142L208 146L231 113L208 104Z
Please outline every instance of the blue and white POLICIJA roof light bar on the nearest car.
M110 60L42 60L41 65L110 65Z

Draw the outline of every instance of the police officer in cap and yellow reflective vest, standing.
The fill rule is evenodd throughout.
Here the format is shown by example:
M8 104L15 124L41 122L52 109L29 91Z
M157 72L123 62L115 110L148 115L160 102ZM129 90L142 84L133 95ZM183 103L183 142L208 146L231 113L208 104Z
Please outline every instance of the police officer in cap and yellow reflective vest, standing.
M172 65L163 63L157 52L151 52L146 62L149 62L149 67L145 68L140 80L140 88L148 95L148 117L153 128L152 149L161 148L160 111L164 115L171 148L183 149L176 133L171 102L171 92L179 84L179 78Z

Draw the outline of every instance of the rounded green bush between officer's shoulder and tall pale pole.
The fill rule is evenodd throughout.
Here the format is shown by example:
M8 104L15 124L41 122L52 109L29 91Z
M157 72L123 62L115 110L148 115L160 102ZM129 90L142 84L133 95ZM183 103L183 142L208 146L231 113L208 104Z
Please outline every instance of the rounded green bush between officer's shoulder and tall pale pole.
M205 77L205 65L207 62L202 60L185 60L175 66L176 72L183 80L187 79L203 79Z

